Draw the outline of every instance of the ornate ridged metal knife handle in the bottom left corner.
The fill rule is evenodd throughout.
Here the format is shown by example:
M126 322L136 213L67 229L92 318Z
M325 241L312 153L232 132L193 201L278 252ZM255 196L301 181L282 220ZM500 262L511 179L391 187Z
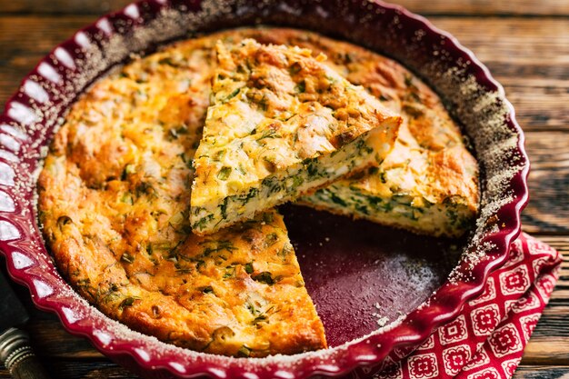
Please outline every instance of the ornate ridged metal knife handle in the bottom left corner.
M0 335L0 360L15 379L49 379L22 330L10 328Z

